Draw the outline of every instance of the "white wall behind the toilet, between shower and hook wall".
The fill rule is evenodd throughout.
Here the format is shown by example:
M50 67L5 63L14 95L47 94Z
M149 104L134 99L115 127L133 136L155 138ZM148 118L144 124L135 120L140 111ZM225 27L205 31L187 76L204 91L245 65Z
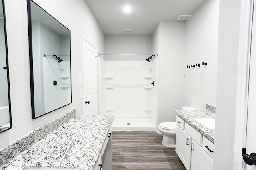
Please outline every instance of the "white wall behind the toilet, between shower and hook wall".
M185 23L161 21L159 27L157 125L160 122L176 121L174 110L183 105L185 66Z

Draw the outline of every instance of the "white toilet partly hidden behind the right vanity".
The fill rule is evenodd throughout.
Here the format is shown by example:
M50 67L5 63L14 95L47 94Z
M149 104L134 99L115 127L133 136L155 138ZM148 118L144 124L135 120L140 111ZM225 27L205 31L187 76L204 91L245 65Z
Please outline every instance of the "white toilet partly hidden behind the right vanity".
M182 110L196 110L190 106L182 106ZM158 125L158 130L164 134L162 145L168 148L175 148L176 122L162 122Z

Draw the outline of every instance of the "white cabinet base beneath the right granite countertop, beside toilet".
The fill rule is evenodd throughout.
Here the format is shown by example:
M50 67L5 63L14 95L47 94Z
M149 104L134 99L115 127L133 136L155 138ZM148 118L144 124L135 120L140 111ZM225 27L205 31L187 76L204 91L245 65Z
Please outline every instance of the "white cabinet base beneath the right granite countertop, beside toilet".
M175 151L185 168L187 170L212 170L214 144L180 119L177 116Z

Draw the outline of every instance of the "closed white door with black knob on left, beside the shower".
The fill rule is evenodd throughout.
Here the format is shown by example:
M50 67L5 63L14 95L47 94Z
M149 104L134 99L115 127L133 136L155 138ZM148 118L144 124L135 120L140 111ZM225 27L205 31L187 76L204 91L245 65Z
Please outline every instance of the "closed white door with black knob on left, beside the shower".
M98 115L97 50L84 39L84 115Z

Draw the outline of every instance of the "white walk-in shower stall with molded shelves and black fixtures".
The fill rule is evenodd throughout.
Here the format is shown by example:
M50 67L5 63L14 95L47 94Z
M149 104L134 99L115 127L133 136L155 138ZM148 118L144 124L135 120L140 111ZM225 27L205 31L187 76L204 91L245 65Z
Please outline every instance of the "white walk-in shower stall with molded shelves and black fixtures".
M158 54L99 54L98 61L100 115L115 117L113 130L156 130Z

